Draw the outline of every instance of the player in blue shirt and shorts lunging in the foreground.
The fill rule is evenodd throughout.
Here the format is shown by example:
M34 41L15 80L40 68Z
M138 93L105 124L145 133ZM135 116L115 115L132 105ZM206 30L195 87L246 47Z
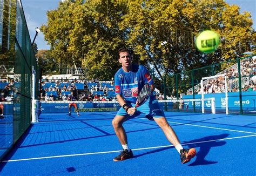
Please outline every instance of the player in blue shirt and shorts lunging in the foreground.
M166 138L175 146L180 154L181 163L185 164L190 161L190 159L196 155L196 149L184 149L181 146L176 133L167 122L164 111L161 110L153 93L151 93L151 96L144 104L137 107L137 109L134 107L138 92L146 83L151 86L152 92L154 90L153 80L149 71L142 65L132 64L131 52L126 48L119 49L118 57L118 61L122 64L122 67L114 75L114 89L117 100L123 108L119 109L117 112L116 117L112 120L112 125L122 144L123 151L113 160L122 161L133 157L132 150L127 143L127 136L123 123L128 120L128 118L144 113L147 115L147 118L152 117L154 121L156 121L159 127L163 130Z

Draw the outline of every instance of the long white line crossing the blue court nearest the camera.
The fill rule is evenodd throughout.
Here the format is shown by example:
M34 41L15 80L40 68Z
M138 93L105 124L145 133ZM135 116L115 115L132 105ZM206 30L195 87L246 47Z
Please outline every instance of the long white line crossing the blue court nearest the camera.
M185 144L182 144L182 145L200 144L200 143L208 143L208 142L217 141L217 140L230 140L230 139L248 138L248 137L254 137L254 136L256 136L256 135L241 136L241 137L233 137L233 138L224 138L224 139L206 140L206 141L200 141L200 142L195 142L195 143L185 143ZM133 149L133 151L137 151L137 150L149 150L149 149L152 149L152 148L164 148L164 147L171 147L171 146L173 146L173 145L164 145L164 146L156 146L156 147L145 147L145 148L135 148L135 149ZM8 163L8 162L14 162L14 161L28 161L28 160L48 159L48 158L76 157L76 156L82 156L82 155L104 154L104 153L116 153L116 152L120 152L120 150L116 150L116 151L106 151L106 152L93 152L93 153L80 153L80 154L58 155L58 156L51 156L51 157L13 159L13 160L4 160L4 161L2 161L2 162L3 162L3 163Z

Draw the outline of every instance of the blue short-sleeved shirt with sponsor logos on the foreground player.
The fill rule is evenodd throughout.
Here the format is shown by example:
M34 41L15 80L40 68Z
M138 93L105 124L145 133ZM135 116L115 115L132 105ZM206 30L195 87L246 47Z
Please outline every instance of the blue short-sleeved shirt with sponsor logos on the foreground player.
M143 65L132 64L132 70L125 72L121 67L114 75L114 91L120 94L125 101L136 103L142 87L153 84L149 71Z

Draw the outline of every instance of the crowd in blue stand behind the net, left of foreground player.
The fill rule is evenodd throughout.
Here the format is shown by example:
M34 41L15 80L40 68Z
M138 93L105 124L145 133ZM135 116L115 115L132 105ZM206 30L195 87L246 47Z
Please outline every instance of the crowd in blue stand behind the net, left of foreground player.
M109 82L99 80L83 81L78 79L42 79L41 100L68 100L71 92L76 91L76 98L80 101L114 100L113 78Z

